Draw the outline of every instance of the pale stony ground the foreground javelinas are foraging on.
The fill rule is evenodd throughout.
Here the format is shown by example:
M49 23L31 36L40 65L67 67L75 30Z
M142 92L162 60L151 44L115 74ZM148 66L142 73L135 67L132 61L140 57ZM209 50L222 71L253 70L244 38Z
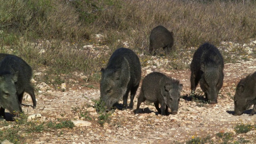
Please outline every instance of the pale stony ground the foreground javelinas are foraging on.
M153 56L154 58L154 56ZM179 79L183 84L178 114L169 116L158 115L154 104L142 103L140 108L144 113L134 114L133 110L118 110L110 116L111 120L104 125L98 123L98 114L92 106L94 100L100 98L99 83L85 83L79 80L67 80L62 89L55 90L53 86L34 81L36 88L37 107L22 106L25 114L38 114L38 122L58 122L62 120L87 121L84 125L74 128L42 131L38 133L24 133L22 143L30 144L171 144L186 143L192 138L209 136L209 143L222 143L224 140L216 136L217 133L231 132L234 139L230 143L249 140L256 142L256 130L246 134L236 134L236 124L256 124L256 116L249 116L247 110L241 116L233 116L236 84L248 73L256 70L256 59L238 63L227 63L224 66L224 85L220 90L218 104L209 105L190 99L190 70L164 70L158 66L142 68L142 78L153 71L163 72ZM40 72L34 72L35 77ZM76 74L76 73L74 73ZM79 77L79 74L76 74ZM35 78L36 79L36 78ZM199 86L199 94L202 94ZM137 106L137 96L134 99L134 109ZM32 105L30 96L25 95L23 103ZM119 103L122 103L120 101ZM87 113L84 118L81 114ZM90 118L88 118L90 117ZM13 124L15 125L15 124ZM9 125L12 127L12 124ZM1 129L6 127L0 125ZM242 143L242 142L241 142Z

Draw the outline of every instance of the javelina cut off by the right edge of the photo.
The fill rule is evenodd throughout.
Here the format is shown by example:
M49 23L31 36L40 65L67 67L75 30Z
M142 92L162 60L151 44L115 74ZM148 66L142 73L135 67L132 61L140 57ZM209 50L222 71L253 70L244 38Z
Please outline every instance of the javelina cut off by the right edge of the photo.
M237 84L234 104L235 116L240 116L244 110L247 110L253 104L250 116L254 115L256 110L256 72L242 78Z

